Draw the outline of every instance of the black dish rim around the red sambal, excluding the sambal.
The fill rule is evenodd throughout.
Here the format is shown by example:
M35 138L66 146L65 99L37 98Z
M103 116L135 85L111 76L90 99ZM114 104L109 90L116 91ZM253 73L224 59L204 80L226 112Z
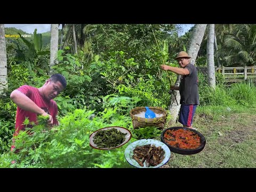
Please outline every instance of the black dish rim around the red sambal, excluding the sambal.
M180 148L176 148L176 147L170 146L164 140L164 133L165 133L166 130L178 130L178 129L189 130L189 131L193 131L196 134L198 134L199 137L200 137L201 145L198 148L196 148L196 149L180 149ZM189 129L189 128L186 128L186 127L170 127L170 128L167 128L166 130L164 130L161 133L161 141L164 142L165 145L167 145L169 147L170 151L172 151L173 153L178 153L178 154L182 154L182 155L192 155L192 154L199 153L200 151L202 151L204 149L206 140L205 140L204 136L201 133L199 133L198 131L193 130L193 129Z

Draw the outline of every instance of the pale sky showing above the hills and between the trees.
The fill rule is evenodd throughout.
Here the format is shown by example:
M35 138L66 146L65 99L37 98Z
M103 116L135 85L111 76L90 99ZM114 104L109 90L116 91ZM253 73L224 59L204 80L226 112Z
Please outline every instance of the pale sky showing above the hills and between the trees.
M194 24L182 24L181 26L183 31L179 35L184 35ZM35 28L37 28L37 33L45 33L51 30L51 24L4 24L4 27L15 27L28 34L33 34Z

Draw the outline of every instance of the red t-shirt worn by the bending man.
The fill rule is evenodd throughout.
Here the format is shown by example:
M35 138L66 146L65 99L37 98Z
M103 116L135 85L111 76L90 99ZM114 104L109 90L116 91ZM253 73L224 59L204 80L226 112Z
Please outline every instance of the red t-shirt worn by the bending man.
M53 118L53 125L58 125L56 118L56 115L58 114L58 107L56 101L45 100L39 90L33 86L22 85L17 90L27 95L27 97L34 101L38 107L44 109L46 113L50 114ZM28 117L29 122L35 122L35 124L37 124L37 114L17 107L15 132L13 135L17 135L20 130L25 130L25 125L22 125L25 121L25 117ZM27 125L27 127L31 127L31 125Z

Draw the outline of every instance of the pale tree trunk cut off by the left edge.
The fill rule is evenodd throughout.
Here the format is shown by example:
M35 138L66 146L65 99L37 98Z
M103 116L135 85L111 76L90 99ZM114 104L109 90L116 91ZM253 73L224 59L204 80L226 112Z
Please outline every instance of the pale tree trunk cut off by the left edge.
M0 94L7 89L7 58L4 24L0 24Z

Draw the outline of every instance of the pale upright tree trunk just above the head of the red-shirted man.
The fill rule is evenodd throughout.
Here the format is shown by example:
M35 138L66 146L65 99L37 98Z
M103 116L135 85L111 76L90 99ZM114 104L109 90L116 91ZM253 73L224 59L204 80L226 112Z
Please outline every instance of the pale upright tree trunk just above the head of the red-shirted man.
M59 25L51 24L51 52L50 52L50 75L53 74L52 66L58 63L58 38L59 38Z

